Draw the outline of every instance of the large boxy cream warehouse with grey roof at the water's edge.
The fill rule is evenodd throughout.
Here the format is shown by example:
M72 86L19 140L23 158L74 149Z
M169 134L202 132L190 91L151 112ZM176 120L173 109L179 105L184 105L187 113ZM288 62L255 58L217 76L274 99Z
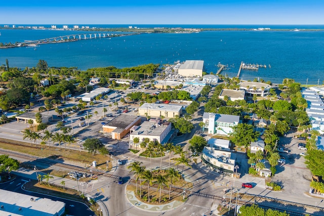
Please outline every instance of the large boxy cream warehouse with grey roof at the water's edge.
M203 76L204 61L187 60L178 69L182 76Z

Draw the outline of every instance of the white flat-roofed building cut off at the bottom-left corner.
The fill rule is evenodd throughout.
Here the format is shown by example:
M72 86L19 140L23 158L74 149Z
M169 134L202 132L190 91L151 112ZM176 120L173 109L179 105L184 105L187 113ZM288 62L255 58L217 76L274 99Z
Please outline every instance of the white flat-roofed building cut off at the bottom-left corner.
M33 201L30 199L33 198ZM64 202L0 189L0 215L51 216L65 207ZM19 210L21 208L21 210Z

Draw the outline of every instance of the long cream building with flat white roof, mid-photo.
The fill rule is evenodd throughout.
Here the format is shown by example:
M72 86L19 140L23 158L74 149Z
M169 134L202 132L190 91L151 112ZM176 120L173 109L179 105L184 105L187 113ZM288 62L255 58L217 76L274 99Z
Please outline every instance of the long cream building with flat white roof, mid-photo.
M174 118L176 115L181 116L182 106L170 104L152 104L145 103L138 108L138 114L142 116Z

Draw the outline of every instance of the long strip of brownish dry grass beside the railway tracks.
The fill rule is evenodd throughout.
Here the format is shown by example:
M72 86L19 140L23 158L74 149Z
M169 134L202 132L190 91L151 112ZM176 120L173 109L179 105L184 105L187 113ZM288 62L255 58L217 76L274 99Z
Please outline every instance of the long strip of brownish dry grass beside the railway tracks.
M64 145L61 146L60 150L56 146L51 146L50 148L48 145L45 147L41 147L41 145L35 146L34 144L32 144L32 146L30 146L30 143L28 142L18 142L13 140L0 139L0 148L2 149L16 151L42 158L77 161L83 163L84 166L86 164L92 164L92 161L95 160L97 161L97 168L106 170L106 161L110 160L110 157L101 154L92 155L91 153L85 151L68 151L68 145L66 146L66 150L64 150ZM108 170L109 167L111 169L111 163L109 163Z

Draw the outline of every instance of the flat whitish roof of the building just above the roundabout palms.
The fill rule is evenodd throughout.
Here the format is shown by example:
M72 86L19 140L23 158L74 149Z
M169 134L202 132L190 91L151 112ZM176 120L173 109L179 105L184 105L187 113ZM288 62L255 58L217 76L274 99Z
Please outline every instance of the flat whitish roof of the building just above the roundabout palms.
M168 127L168 124L156 124L154 121L144 121L141 125L134 127L131 135L160 136Z

